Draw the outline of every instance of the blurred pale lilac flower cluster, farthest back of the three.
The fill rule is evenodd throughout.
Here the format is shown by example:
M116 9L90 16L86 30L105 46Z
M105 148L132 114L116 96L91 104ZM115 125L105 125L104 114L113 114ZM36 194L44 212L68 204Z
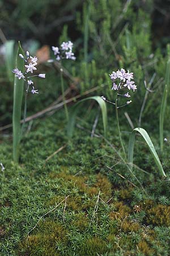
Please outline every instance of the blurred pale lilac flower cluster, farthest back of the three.
M74 56L74 52L72 52L73 43L71 41L63 42L60 47L52 46L52 50L54 52L54 55L56 55L56 60L58 61L62 59L76 59Z

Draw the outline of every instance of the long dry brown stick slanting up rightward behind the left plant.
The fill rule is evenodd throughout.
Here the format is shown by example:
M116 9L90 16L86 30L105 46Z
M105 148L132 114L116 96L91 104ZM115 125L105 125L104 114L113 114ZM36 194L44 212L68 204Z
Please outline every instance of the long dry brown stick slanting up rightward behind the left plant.
M103 85L100 85L100 86L104 87L105 85L103 84ZM73 101L75 101L75 100L78 100L78 98L80 98L80 97L82 97L82 96L86 96L87 94L90 94L90 93L92 93L92 92L95 92L95 90L99 89L100 86L96 86L96 87L94 87L94 88L92 88L92 89L90 89L90 90L87 90L86 92L84 92L84 93L82 93L82 94L78 94L78 95L75 96L75 97L71 97L71 98L69 98L68 100L66 100L65 102L66 102L66 104L67 104L67 103L73 102ZM27 117L27 118L25 119L25 122L29 122L29 121L31 121L31 120L33 120L33 119L39 118L39 117L41 117L42 115L44 115L44 114L46 114L46 113L48 113L48 112L50 112L50 111L52 111L52 110L61 109L61 108L63 107L63 105L64 105L64 102L61 102L61 103L59 103L59 104L57 104L57 105L54 105L54 106L49 106L48 108L43 109L43 110L41 110L40 112L37 112L36 114L30 115L30 117ZM21 123L23 123L23 120L21 121ZM5 126L0 127L0 131L6 130L6 129L10 128L10 127L12 127L12 123L10 123L9 125L5 125Z

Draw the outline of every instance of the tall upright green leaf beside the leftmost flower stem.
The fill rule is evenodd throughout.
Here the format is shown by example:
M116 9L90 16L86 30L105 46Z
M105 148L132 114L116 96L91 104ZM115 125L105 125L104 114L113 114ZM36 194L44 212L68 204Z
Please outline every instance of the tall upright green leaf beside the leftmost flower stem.
M24 55L23 49L18 43L18 51L16 52L16 64L20 71L24 72L24 60L19 57L19 54ZM22 100L23 100L23 88L24 81L23 79L14 79L14 105L13 105L13 115L12 115L12 126L13 126L13 159L14 162L19 160L19 142L20 142L20 120L22 114Z

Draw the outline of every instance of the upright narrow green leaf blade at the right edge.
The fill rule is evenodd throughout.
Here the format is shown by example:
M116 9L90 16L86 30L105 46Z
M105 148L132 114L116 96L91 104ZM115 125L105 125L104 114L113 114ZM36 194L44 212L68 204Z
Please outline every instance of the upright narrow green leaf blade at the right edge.
M168 94L168 89L167 85L165 85L164 88L164 93L162 97L162 102L160 106L160 116L159 116L159 138L160 138L160 150L163 152L163 143L164 143L164 115L165 115L165 110L167 107L167 94Z

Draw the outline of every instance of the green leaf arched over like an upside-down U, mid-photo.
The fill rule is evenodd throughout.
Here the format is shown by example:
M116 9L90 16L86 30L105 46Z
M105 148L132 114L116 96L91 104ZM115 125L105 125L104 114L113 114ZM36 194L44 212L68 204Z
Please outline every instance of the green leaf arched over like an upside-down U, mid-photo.
M70 118L69 118L69 123L67 125L67 135L69 137L73 136L73 132L74 132L74 126L75 126L75 118L76 118L76 114L79 110L79 105L87 100L95 100L97 101L97 103L100 106L101 109L101 113L102 113L102 118L103 118L103 127L104 127L104 136L106 137L107 134L107 106L105 104L105 101L102 100L101 97L99 96L94 96L94 97L88 97L88 98L84 98L83 100L80 100L79 102L77 102L74 107L73 107L73 111L70 114Z

